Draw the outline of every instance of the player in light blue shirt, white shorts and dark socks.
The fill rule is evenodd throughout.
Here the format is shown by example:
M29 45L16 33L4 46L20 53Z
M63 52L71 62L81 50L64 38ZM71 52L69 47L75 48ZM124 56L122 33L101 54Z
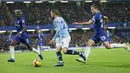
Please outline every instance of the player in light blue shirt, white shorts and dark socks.
M52 40L50 40L50 44L54 44L58 42L59 45L56 45L56 54L59 62L55 65L55 67L63 66L62 54L61 50L63 50L64 54L70 55L79 55L84 60L86 60L84 52L77 52L74 50L68 50L69 43L71 40L70 34L68 32L68 25L65 20L61 17L61 14L58 10L52 10L50 12L51 18L53 19L54 29L56 29L56 33Z

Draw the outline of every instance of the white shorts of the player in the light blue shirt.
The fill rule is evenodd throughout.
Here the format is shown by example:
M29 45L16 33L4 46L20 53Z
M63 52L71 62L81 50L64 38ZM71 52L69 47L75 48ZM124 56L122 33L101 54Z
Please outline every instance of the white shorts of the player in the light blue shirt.
M56 38L56 47L68 48L70 41L71 41L70 36L66 38Z

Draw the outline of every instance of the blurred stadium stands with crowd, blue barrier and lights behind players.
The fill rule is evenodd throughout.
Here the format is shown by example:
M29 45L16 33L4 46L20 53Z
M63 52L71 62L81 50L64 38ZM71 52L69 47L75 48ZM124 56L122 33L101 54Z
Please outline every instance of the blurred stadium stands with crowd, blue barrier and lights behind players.
M70 47L86 46L93 35L93 25L72 25L74 21L87 21L92 17L90 5L99 4L104 15L108 16L108 31L112 43L130 41L130 0L0 0L0 51L9 51L8 38L15 34L14 10L20 9L26 18L27 31L31 44L36 45L35 29L40 27L44 33L44 45L49 46L52 23L50 10L58 9L69 25L71 33ZM98 44L100 45L100 44ZM18 49L24 46L18 46Z

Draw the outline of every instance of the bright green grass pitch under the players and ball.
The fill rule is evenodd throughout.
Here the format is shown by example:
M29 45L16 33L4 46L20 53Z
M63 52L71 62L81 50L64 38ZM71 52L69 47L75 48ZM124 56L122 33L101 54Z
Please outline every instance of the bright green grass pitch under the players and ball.
M15 53L16 62L9 63L8 53L0 54L0 73L130 73L130 52L124 49L92 49L87 64L75 59L78 56L63 55L64 67L57 63L55 51L44 51L41 67L32 62L38 56L33 52Z

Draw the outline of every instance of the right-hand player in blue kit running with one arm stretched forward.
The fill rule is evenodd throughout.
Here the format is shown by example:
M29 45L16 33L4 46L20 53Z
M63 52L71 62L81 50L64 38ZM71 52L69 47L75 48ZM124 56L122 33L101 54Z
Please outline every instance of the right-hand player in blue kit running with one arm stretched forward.
M86 60L90 54L91 47L94 44L98 43L99 41L103 42L104 46L107 49L111 49L111 48L115 48L115 47L122 47L122 48L125 48L126 50L130 51L129 46L125 43L124 44L110 44L109 43L109 40L106 35L106 30L104 29L104 27L105 27L104 24L108 21L108 18L99 11L97 5L93 4L91 6L91 12L94 14L94 16L89 21L73 22L73 24L81 24L81 25L82 24L86 24L86 25L94 24L93 29L95 31L95 34L87 43L88 48L86 48L86 50L85 50ZM76 60L79 62L86 63L86 60L83 60L81 58L77 58Z

